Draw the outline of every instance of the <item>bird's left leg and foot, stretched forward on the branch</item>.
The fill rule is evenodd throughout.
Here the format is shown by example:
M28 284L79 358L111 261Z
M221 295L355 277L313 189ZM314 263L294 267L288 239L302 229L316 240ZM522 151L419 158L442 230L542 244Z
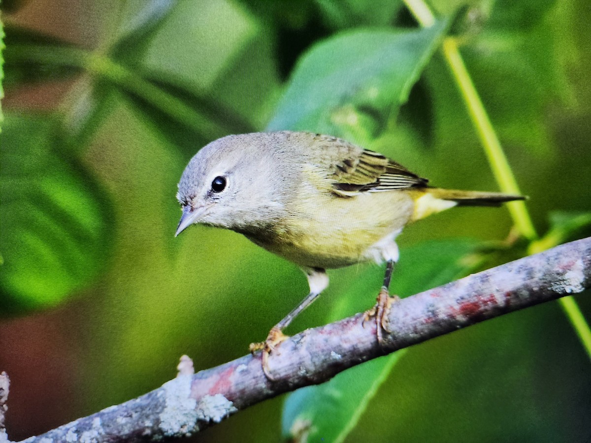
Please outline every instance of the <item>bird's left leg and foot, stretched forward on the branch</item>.
M309 307L312 302L320 295L320 292L326 289L329 285L329 277L326 275L326 271L322 268L310 268L304 269L308 278L308 284L310 285L310 293L306 295L299 305L297 305L291 312L274 327L271 328L267 335L267 340L262 343L251 343L250 351L255 352L262 350L262 370L269 380L274 380L269 372L269 354L275 350L275 347L282 341L288 338L281 331L288 327L291 321L296 318L301 311Z

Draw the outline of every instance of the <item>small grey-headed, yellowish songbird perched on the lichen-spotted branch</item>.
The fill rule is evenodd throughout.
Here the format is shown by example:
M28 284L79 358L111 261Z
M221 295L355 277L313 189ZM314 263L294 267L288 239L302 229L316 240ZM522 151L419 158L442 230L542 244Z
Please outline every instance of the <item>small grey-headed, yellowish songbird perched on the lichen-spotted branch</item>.
M183 215L176 235L194 223L231 229L306 273L310 293L260 346L269 376L269 352L328 286L326 269L386 262L381 294L387 294L398 260L395 239L408 223L453 206L524 197L430 187L377 152L333 136L281 131L229 135L204 146L185 168L177 198Z

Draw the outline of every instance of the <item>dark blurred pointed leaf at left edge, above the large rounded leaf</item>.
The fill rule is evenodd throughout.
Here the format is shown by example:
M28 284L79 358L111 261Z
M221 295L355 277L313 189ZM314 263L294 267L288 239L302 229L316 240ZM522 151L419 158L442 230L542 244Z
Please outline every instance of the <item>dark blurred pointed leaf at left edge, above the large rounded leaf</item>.
M83 51L41 32L6 27L5 86L67 79L82 72Z

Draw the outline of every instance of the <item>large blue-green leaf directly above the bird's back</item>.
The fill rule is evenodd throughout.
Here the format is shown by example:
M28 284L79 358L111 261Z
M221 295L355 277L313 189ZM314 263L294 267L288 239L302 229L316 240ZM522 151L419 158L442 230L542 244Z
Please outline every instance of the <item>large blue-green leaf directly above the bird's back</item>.
M423 30L356 30L311 48L291 76L270 130L378 135L408 99L447 22Z

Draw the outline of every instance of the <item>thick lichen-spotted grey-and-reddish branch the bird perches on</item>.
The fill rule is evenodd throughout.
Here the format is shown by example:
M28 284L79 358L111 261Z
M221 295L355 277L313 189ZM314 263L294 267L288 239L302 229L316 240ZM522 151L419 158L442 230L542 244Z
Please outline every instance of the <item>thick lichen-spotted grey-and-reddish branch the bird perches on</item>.
M325 382L363 361L589 286L591 237L394 302L382 346L375 322L366 321L364 327L363 314L357 314L277 346L269 358L274 382L262 372L260 354L196 374L183 356L176 379L162 387L25 442L145 442L193 435L241 409Z

